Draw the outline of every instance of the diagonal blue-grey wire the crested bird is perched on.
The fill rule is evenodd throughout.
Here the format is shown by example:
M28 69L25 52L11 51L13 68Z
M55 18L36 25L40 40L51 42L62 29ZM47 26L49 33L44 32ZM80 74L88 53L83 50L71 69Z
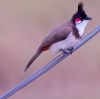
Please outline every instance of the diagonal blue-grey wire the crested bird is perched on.
M73 52L76 51L78 48L80 48L87 41L89 41L90 39L92 39L99 32L100 32L100 26L96 27L91 33L89 33L87 36L85 36L73 48ZM7 91L5 94L3 94L0 97L0 99L7 99L8 97L10 97L14 93L16 93L17 91L19 91L23 87L25 87L26 85L28 85L29 83L31 83L32 81L34 81L35 79L37 79L38 77L42 76L44 73L46 73L48 70L50 70L51 68L53 68L54 66L56 66L56 64L58 64L59 62L61 62L62 60L64 60L70 54L71 53L69 51L67 53L63 53L63 54L59 55L58 57L56 57L55 59L53 59L51 62L49 62L47 65L43 66L42 68L40 68L39 70L37 70L35 73L33 73L31 76L29 76L28 78L26 78L25 80L23 80L22 82L20 82L19 84L17 84L14 88L12 88L9 91Z

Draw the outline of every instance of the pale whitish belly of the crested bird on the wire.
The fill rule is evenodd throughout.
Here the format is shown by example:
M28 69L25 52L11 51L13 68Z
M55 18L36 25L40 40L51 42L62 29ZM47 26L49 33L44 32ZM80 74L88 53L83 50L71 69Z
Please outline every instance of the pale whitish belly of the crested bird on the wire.
M59 41L51 45L50 51L52 53L58 53L61 51L61 49L65 50L75 46L78 41L79 39L75 38L73 34L70 34L65 40Z

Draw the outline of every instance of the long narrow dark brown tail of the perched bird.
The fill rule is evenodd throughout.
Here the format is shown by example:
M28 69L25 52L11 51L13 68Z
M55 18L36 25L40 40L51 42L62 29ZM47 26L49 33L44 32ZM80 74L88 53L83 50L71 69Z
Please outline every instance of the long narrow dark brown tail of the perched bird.
M36 51L36 53L34 54L34 56L29 60L28 64L26 65L25 67L25 70L24 71L27 71L27 69L31 66L31 64L36 60L36 58L41 54L41 50L38 49Z

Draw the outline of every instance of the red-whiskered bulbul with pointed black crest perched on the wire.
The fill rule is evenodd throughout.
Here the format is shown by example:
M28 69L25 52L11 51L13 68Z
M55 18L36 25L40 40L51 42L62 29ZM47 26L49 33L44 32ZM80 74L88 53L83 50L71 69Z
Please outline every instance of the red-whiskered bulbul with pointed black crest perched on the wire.
M35 55L28 62L25 71L43 51L50 49L53 53L57 53L60 51L64 52L66 49L73 49L76 43L83 37L83 32L89 20L92 20L92 18L87 16L81 1L78 4L77 12L68 22L50 30L38 47Z

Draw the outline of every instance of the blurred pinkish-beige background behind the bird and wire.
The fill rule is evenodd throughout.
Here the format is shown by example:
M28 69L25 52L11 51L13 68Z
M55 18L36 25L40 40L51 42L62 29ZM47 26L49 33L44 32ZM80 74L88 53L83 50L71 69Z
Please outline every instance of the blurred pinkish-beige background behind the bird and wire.
M68 21L80 0L0 0L0 95L55 56L48 51L24 68L53 26ZM83 0L85 35L100 25L100 0ZM100 36L9 99L100 99Z

